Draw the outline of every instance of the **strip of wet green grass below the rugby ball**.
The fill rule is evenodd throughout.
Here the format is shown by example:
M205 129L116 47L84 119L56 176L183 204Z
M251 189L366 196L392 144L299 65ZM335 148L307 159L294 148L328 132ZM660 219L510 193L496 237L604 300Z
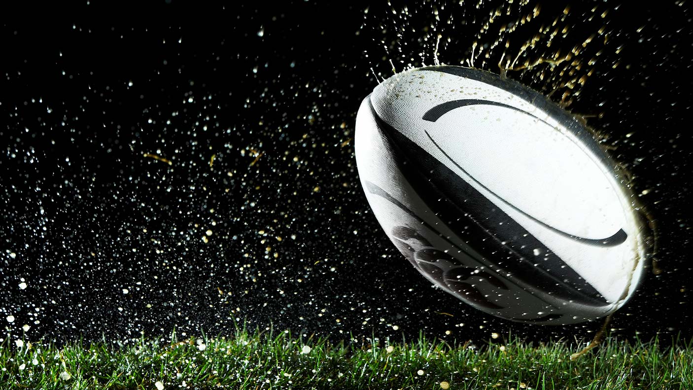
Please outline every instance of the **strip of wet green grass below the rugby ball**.
M67 346L4 341L0 389L693 389L693 344L519 339L450 346L239 329L232 337Z

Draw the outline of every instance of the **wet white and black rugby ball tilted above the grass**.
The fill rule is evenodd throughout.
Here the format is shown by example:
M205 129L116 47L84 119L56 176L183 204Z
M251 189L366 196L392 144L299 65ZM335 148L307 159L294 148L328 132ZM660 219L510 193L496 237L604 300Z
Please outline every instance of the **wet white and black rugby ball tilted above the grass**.
M363 100L356 163L371 209L429 281L504 319L604 317L647 255L629 188L592 133L493 73L426 67Z

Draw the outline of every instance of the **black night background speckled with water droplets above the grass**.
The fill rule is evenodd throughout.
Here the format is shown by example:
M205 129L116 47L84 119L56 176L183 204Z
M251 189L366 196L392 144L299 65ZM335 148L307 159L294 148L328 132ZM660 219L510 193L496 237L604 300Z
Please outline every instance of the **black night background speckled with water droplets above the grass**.
M137 10L141 22L111 21L107 6L85 3L49 10L71 15L50 23L3 24L6 333L19 337L28 325L29 339L128 339L174 326L229 333L244 320L335 338L511 330L548 339L599 328L510 323L432 288L396 252L360 188L351 139L374 73L392 74L389 60L420 66L420 53L432 64L437 33L441 61L459 64L502 2L416 1L405 18L385 2L282 3L150 2ZM570 51L601 26L610 34L586 48L603 51L570 109L603 114L588 123L635 175L635 193L658 220L665 271L647 274L612 334L693 336L693 221L682 211L692 184L693 12L674 1L576 3L557 45ZM563 7L544 5L514 44L560 15ZM498 72L497 63L483 67ZM541 69L509 76L549 91Z

